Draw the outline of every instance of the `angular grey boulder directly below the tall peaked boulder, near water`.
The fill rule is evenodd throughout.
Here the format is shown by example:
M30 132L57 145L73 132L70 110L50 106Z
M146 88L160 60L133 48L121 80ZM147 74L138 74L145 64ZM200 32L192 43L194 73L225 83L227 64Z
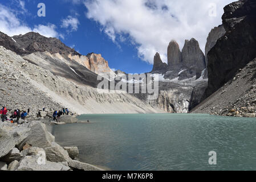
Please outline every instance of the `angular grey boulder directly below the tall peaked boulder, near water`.
M52 142L51 147L45 148L46 158L51 162L68 162L71 160L68 152L59 144Z

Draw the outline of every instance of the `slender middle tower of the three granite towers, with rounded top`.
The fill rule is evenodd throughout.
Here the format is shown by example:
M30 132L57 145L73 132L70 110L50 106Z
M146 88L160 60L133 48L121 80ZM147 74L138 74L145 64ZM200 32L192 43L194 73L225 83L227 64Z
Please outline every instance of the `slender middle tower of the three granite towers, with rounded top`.
M180 68L182 65L181 52L178 43L172 40L167 49L169 69Z

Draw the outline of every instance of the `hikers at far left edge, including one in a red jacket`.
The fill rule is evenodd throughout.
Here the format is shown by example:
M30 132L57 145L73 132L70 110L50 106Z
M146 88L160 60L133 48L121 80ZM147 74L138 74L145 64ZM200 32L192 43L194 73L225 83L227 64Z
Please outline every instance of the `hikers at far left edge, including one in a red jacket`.
M9 118L7 118L8 110L6 109L6 107L3 106L2 109L0 110L2 122L10 121L11 123L14 123L13 119L16 119L15 122L18 123L20 118L25 121L29 112L30 112L30 108L27 111L23 110L22 112L21 112L21 110L16 109L11 113L11 116L9 119Z

